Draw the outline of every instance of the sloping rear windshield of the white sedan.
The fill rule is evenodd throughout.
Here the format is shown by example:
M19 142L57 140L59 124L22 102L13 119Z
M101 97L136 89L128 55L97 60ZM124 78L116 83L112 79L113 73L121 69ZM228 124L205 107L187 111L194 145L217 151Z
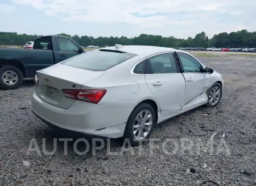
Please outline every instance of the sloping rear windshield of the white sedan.
M72 57L61 64L89 71L106 71L135 56L133 53L95 50Z

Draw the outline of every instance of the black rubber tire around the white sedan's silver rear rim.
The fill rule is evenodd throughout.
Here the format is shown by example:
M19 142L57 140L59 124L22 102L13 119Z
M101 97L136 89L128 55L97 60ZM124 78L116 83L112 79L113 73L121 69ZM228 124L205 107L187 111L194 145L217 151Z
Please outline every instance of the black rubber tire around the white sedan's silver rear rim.
M123 138L128 138L130 140L130 143L133 146L138 146L139 145L139 140L134 139L134 135L133 135L133 123L135 120L135 117L137 117L137 115L142 111L142 110L148 110L151 112L152 114L152 127L150 132L148 133L148 135L144 138L148 138L150 137L152 131L154 130L155 127L155 122L156 122L156 116L155 116L155 111L152 108L151 105L143 103L143 104L139 104L136 108L134 108L134 110L131 112L130 117L127 121L127 125L126 125L126 130L125 130L125 134L123 135Z

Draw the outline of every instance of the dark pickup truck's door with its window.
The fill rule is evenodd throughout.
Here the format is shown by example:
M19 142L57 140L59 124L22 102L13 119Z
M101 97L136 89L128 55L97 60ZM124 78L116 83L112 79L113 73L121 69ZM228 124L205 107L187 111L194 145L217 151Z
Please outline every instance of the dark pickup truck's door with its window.
M57 43L59 46L58 62L79 54L79 46L77 46L77 44L73 42L71 39L57 38Z

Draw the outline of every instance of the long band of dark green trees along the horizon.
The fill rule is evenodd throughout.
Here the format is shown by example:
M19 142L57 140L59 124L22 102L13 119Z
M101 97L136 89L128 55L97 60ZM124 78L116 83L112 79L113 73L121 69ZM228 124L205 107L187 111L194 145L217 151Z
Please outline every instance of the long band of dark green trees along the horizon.
M146 46L161 46L161 47L256 47L256 31L249 32L241 30L237 32L222 32L216 34L209 39L205 32L196 34L195 38L188 37L187 39L178 39L174 36L163 37L161 35L147 35L141 34L134 38L127 38L125 36L118 37L98 37L93 36L79 36L68 34L57 34L67 36L75 40L80 46L114 46L115 44L122 45L146 45ZM0 32L0 45L23 46L26 42L34 41L40 35L17 34L16 32Z

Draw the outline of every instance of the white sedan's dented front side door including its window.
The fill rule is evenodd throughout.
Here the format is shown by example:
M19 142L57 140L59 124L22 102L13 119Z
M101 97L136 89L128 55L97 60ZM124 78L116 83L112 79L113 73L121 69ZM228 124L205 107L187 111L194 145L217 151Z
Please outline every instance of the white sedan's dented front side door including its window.
M186 81L183 106L192 102L209 87L210 75L203 72L203 67L194 57L187 53L177 52L181 64L181 71Z

